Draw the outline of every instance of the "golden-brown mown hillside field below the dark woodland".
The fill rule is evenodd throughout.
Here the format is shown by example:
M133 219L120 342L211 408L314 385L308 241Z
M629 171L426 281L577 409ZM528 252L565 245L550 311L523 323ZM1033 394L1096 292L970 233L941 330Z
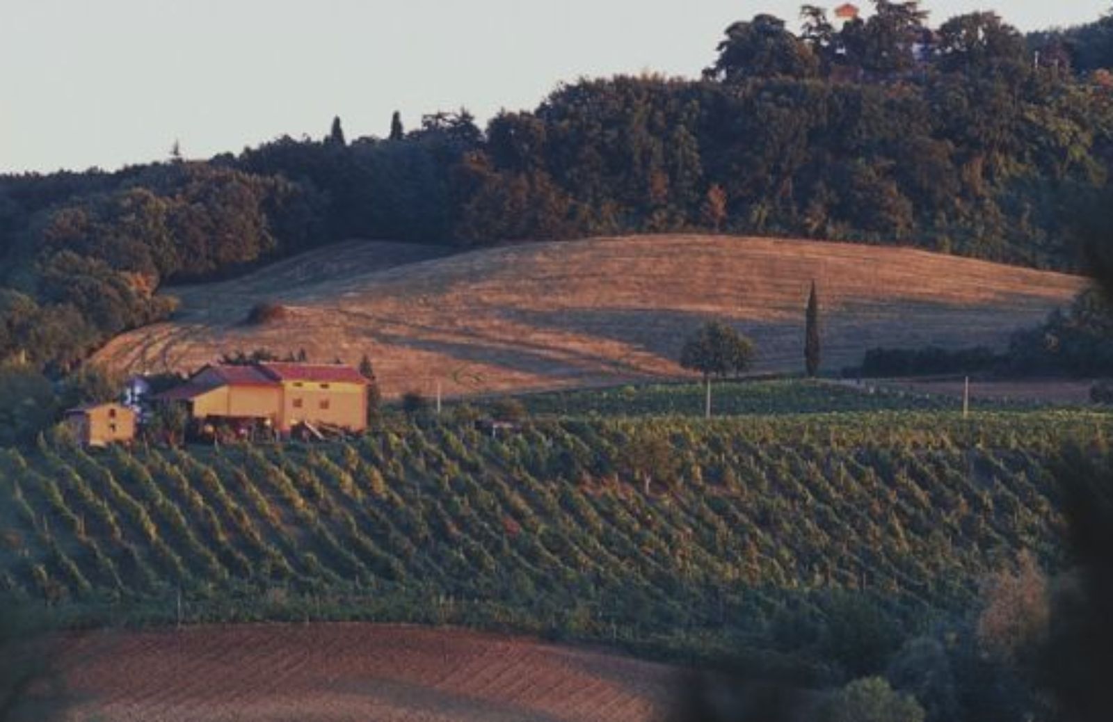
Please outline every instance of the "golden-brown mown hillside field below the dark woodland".
M1084 280L905 248L651 236L443 249L353 241L245 278L169 289L178 317L114 339L97 358L131 372L193 370L225 352L364 353L386 396L482 394L682 375L700 323L754 337L758 372L802 365L804 307L818 284L827 368L873 346L1003 346L1066 305ZM288 317L243 319L260 301Z

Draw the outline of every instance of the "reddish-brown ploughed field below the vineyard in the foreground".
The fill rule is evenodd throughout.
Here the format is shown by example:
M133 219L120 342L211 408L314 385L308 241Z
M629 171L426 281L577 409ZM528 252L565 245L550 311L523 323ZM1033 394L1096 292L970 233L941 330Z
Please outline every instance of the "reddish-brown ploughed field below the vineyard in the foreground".
M657 720L663 665L457 630L243 625L67 645L72 721Z

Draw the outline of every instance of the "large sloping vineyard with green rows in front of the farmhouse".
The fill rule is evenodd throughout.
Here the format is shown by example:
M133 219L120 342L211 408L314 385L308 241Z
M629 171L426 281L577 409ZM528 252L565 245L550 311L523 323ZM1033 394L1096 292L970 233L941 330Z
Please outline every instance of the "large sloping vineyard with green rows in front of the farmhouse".
M1101 414L904 412L43 442L0 452L0 584L75 623L453 623L821 659L848 599L914 629L971 609L1018 550L1053 566L1048 458L1111 431ZM673 461L647 471L654 439Z

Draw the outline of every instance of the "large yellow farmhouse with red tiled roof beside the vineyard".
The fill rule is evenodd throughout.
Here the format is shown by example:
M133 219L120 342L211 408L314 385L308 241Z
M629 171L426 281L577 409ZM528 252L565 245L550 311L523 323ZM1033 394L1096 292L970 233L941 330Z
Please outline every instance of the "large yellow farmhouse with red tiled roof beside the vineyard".
M358 370L338 364L213 365L156 400L185 405L201 425L258 424L283 434L299 425L362 432L370 384Z

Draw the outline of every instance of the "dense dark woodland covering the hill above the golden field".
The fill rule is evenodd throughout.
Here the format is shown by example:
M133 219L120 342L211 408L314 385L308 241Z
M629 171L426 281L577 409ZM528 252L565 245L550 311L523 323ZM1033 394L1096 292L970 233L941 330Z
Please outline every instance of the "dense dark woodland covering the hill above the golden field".
M708 42L699 79L583 79L480 128L283 137L238 156L0 177L0 358L60 375L166 317L164 284L337 239L479 245L705 230L1075 268L1113 158L1113 19L1024 37L875 0Z

